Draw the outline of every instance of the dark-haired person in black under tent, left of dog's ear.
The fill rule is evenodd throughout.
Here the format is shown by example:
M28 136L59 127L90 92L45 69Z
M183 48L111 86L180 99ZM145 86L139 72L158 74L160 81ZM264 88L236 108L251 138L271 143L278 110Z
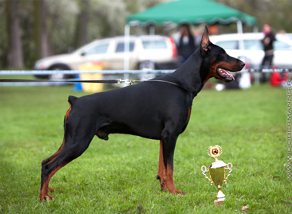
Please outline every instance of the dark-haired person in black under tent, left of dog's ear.
M182 57L181 63L183 64L195 52L195 42L189 26L183 24L181 27L182 36L178 46L178 56Z

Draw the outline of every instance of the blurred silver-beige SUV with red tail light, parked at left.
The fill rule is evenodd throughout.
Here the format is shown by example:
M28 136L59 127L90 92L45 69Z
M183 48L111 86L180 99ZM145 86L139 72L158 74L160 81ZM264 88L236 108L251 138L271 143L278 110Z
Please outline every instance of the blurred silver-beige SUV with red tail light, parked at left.
M156 69L175 69L176 48L172 38L161 35L130 36L129 69L139 69L145 61L154 61ZM79 70L79 65L107 62L107 70L124 69L124 36L94 40L73 53L49 56L36 61L34 70ZM140 66L141 67L141 66ZM38 77L48 77L39 75ZM61 79L64 77L49 77Z

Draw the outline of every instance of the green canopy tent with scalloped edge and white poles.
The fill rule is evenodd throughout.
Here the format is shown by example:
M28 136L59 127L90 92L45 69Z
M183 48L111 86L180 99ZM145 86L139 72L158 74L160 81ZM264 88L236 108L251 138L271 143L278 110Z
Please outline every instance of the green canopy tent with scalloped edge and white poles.
M213 25L215 23L230 24L237 23L237 32L242 33L242 23L253 25L257 32L257 19L251 15L238 11L234 8L209 0L180 0L169 1L158 4L140 13L135 13L127 18L125 25L125 57L124 70L128 70L128 51L130 26L141 25L170 25L206 23ZM152 33L151 33L152 31ZM150 28L150 34L154 34L154 27ZM241 44L243 46L243 42Z

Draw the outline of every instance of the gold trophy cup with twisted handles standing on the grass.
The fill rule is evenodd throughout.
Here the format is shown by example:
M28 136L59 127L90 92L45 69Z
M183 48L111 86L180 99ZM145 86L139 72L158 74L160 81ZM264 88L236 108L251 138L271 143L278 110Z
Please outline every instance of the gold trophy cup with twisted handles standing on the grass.
M226 183L227 178L229 177L230 173L232 172L232 163L224 163L222 160L218 160L218 158L220 157L220 155L222 154L222 149L220 146L215 145L215 146L210 146L208 149L208 155L211 158L214 158L215 161L213 163L211 163L211 166L208 168L206 166L202 166L201 167L201 171L203 173L203 175L209 180L211 181L211 186L213 184L215 184L215 186L218 189L218 193L216 195L216 200L215 202L215 206L220 206L223 204L223 201L225 200L225 195L223 194L223 192L221 191L221 187L222 184ZM231 167L229 168L229 165L231 165ZM225 168L227 166L227 168ZM203 168L205 167L205 170L203 170ZM228 175L225 178L225 170L229 170ZM206 172L209 172L210 178L208 178L208 176L206 175Z

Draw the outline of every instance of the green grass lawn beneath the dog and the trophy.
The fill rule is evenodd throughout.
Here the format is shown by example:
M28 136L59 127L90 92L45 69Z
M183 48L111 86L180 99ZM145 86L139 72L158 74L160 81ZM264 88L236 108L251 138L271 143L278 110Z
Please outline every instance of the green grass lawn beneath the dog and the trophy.
M129 86L131 87L131 86ZM189 125L178 138L174 182L186 195L160 193L156 180L159 141L111 134L94 137L84 154L52 178L51 202L39 201L41 161L58 150L72 86L1 87L1 213L292 213L287 180L287 92L269 85L248 90L202 90ZM224 205L214 206L217 188L202 175L213 159L233 164L223 184ZM138 212L137 206L142 210Z

